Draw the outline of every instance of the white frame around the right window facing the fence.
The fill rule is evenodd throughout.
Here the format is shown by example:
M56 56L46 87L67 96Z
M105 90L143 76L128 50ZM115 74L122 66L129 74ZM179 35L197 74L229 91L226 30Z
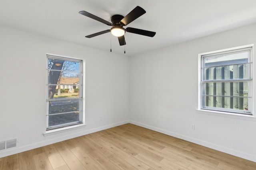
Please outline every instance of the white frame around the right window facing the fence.
M254 69L254 63L252 63L252 59L253 59L253 47L254 45L244 45L244 46L240 46L240 47L234 47L234 48L229 48L229 49L223 49L223 50L218 50L218 51L211 51L211 52L207 52L207 53L201 53L198 54L198 110L199 111L203 111L203 113L211 113L213 115L216 115L215 113L217 113L217 115L235 115L235 116L244 116L244 117L254 117L255 118L255 114L254 114L254 100L253 100L253 85L254 85L254 78L253 78L253 69ZM250 82L250 96L252 97L250 100L250 113L239 113L236 112L234 113L233 111L228 111L228 110L221 110L221 109L206 109L202 107L202 77L203 77L203 70L202 70L202 57L206 56L206 55L213 55L216 53L228 53L228 51L236 51L236 50L240 50L240 49L245 49L245 48L251 48L251 54L250 54L250 63L251 64L251 69L250 69L250 75L252 78L252 81ZM254 85L255 86L255 85Z

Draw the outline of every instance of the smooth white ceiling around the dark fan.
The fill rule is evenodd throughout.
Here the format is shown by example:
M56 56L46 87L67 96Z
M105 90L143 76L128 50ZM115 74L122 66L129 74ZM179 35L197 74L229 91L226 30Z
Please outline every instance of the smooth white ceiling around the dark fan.
M124 53L110 33L86 35L111 27L81 14L86 11L111 22L136 6L146 14L126 27L155 31L154 37L126 33L126 55L136 55L256 22L256 0L0 0L0 25ZM125 27L125 28L126 28Z

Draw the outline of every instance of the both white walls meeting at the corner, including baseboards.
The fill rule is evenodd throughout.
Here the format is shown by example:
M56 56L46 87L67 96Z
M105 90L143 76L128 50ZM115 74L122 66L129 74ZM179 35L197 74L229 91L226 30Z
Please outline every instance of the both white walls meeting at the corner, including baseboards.
M256 162L255 119L196 111L198 54L256 43L255 30L249 25L130 58L0 27L0 141L19 141L0 157L131 122ZM44 137L46 53L86 60L86 127Z

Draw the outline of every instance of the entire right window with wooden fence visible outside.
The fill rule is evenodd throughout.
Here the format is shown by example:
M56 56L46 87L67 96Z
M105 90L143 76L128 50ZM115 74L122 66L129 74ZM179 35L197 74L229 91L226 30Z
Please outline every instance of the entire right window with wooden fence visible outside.
M200 109L252 115L252 45L199 55Z

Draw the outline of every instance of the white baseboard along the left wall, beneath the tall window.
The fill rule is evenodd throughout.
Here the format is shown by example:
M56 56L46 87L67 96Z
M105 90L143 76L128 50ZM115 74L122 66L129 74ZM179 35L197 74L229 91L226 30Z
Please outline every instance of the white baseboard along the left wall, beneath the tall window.
M39 143L33 143L31 145L27 145L27 146L23 146L23 147L18 147L17 146L13 149L7 149L7 150L4 150L4 151L0 152L0 158L5 157L5 156L9 156L9 155L12 155L12 154L17 154L17 153L20 153L20 152L24 152L26 150L36 149L36 148L43 147L43 146L46 146L46 145L50 145L50 144L53 144L53 143L57 143L57 142L60 142L60 141L65 141L65 140L72 139L72 138L75 138L75 137L79 137L79 136L82 136L82 135L87 135L87 134L90 134L90 133L102 131L104 129L109 129L111 127L116 127L116 126L123 125L123 124L126 124L126 123L130 123L130 121L122 121L122 122L113 123L113 124L110 124L110 125L97 127L97 128L94 128L94 129L88 129L86 131L81 131L81 132L74 133L74 134L71 134L71 135L65 135L63 137L50 139L50 140L42 141L42 142L39 142Z

